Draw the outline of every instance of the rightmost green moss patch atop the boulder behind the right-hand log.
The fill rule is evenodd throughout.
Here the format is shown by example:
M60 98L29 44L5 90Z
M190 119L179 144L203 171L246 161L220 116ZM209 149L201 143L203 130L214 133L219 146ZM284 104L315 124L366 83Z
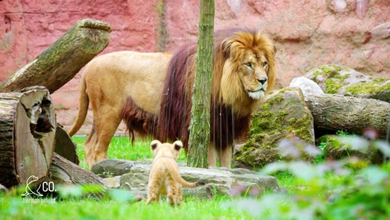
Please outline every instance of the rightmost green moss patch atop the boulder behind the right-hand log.
M390 90L390 79L388 78L375 78L371 82L356 83L345 88L345 91L351 93L352 95L375 94L379 91L387 90Z

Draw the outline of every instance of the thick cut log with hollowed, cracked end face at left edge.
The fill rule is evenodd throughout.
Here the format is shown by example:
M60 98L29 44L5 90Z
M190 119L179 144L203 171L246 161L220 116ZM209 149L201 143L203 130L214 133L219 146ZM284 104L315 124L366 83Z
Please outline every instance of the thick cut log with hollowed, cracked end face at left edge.
M54 152L56 115L49 91L29 87L0 94L0 184L45 177Z

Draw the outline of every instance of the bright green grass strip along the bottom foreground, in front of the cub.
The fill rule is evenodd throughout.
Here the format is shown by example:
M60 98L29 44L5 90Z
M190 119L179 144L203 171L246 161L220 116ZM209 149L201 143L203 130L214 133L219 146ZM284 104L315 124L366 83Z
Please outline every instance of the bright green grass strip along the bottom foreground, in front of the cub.
M173 208L166 202L146 206L145 201L68 199L31 204L19 197L0 197L0 219L252 219L246 212L224 208L226 200L186 198L183 206Z

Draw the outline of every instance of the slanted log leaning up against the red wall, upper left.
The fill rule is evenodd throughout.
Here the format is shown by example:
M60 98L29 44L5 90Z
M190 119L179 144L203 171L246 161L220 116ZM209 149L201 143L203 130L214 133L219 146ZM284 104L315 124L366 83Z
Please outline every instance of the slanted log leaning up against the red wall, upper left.
M65 85L109 41L111 28L93 19L80 20L33 61L0 85L0 92L42 85L50 94Z

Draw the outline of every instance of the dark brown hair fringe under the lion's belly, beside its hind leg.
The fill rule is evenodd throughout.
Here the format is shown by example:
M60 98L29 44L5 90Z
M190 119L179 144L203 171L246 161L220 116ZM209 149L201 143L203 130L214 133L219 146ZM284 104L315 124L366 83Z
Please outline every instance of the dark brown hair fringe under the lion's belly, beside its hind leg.
M126 123L133 146L135 141L134 131L143 136L152 135L153 131L155 131L158 116L140 109L131 97L126 99L126 104L124 104L120 115Z

